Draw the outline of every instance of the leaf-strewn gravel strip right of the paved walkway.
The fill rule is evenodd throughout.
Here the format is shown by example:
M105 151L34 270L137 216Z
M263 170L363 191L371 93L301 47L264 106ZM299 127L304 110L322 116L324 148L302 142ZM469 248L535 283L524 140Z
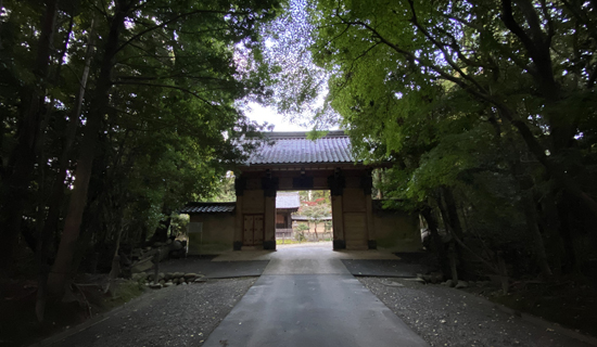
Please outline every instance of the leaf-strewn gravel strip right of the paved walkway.
M431 346L589 346L458 290L402 279L358 280Z

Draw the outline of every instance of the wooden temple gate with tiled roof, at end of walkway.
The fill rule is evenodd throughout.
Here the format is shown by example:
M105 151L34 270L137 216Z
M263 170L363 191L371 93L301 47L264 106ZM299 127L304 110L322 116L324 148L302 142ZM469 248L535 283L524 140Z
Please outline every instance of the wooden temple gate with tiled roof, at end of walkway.
M334 249L376 248L371 167L355 160L348 137L330 131L316 141L305 132L270 132L239 167L236 179L234 249L276 249L276 194L330 190Z

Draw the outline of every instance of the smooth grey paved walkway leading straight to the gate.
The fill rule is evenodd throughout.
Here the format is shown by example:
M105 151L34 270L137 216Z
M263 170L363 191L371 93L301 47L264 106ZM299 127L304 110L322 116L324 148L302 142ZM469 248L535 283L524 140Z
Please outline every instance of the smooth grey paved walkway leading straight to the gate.
M343 253L315 245L259 257L270 259L263 275L204 346L428 346L348 272Z

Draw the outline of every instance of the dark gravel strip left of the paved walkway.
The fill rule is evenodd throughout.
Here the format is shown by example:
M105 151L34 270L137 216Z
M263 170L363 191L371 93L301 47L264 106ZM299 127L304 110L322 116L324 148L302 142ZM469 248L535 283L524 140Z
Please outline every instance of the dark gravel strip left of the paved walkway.
M177 285L52 346L201 346L256 278Z

